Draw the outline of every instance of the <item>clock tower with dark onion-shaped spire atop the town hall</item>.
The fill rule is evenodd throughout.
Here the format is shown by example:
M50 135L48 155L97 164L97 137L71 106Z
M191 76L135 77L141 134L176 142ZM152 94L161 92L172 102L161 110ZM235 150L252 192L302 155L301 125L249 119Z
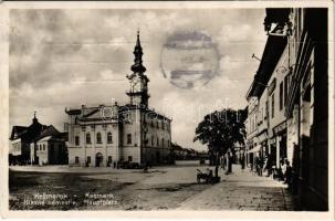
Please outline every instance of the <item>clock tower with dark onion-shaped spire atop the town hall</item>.
M130 69L133 73L127 75L130 84L130 88L127 92L127 95L130 98L132 105L147 107L148 99L150 97L148 94L149 78L144 74L146 72L146 67L143 65L142 61L143 51L139 41L139 31L137 31L137 41L133 53L135 55L135 63Z

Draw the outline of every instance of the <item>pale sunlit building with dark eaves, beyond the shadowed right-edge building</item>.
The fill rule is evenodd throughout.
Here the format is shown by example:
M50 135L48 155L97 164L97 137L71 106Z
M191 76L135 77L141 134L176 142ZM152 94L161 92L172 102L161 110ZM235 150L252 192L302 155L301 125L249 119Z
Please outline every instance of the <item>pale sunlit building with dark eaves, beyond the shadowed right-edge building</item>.
M284 117L284 78L286 38L269 35L260 66L251 87L247 93L250 103L252 98L257 108L248 106L253 147L248 154L259 152L260 157L268 155L275 166L280 167L280 159L285 157L285 117ZM254 110L253 110L254 109ZM253 113L254 112L254 113ZM254 120L254 123L253 123ZM252 130L253 128L253 130ZM250 146L250 143L249 143Z

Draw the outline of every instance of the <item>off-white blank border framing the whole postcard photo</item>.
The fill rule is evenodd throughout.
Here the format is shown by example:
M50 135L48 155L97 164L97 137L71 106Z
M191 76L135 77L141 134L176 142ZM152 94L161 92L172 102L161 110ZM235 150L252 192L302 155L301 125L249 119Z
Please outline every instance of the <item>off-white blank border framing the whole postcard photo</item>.
M8 147L9 131L9 10L10 9L180 9L180 8L328 8L328 212L251 211L13 211L9 210ZM334 2L332 1L114 1L114 2L1 2L0 1L0 156L1 217L3 218L154 218L156 219L334 219Z

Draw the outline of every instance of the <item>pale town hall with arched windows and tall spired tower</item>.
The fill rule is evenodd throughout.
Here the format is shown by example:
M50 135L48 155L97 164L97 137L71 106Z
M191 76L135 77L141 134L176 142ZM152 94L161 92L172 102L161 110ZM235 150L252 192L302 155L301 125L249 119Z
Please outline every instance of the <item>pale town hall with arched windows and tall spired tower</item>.
M127 75L129 104L66 108L69 164L106 167L121 161L138 165L170 161L171 119L148 106L148 82L137 34L133 73Z

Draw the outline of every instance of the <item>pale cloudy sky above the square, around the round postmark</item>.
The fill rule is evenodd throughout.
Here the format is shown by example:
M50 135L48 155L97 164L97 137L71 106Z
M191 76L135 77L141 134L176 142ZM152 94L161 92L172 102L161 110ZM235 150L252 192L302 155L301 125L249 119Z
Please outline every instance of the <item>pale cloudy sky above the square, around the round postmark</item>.
M203 116L224 107L244 108L266 34L264 9L15 9L10 11L10 126L40 123L63 130L65 107L126 104L136 32L140 30L149 77L149 106L172 118L172 141L193 143ZM201 33L214 45L214 75L205 85L182 88L164 75L180 63L163 55L176 33ZM196 55L197 51L190 52ZM182 62L181 62L182 63Z

